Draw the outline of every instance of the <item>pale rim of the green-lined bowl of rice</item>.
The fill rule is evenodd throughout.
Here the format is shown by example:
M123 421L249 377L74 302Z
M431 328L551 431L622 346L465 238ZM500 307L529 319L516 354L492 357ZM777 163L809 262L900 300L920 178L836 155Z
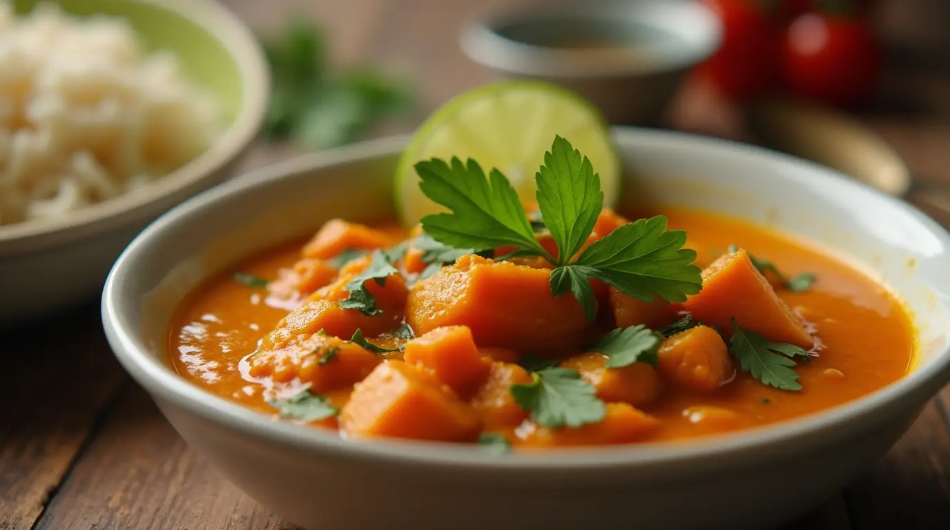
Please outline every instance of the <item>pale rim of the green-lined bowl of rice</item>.
M172 11L218 40L237 65L243 93L234 123L193 161L150 182L136 193L90 204L66 216L0 225L0 256L38 252L65 242L94 237L112 227L154 217L180 193L213 179L248 148L266 116L271 75L254 33L217 0L126 0ZM117 15L122 18L122 15ZM164 200L162 200L164 199Z

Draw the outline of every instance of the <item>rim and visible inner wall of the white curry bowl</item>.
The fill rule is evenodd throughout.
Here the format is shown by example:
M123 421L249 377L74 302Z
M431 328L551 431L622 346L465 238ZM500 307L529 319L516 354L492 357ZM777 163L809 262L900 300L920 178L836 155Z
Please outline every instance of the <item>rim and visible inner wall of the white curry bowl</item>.
M918 361L911 374L888 388L776 426L694 445L604 448L557 459L532 455L503 464L607 465L618 459L683 463L688 455L789 439L822 444L824 439L809 435L832 426L839 431L845 426L875 428L869 421L872 413L879 413L873 415L880 421L909 414L950 377L950 277L945 274L950 237L934 221L831 170L762 149L637 129L616 129L615 138L628 170L627 203L658 201L712 209L811 239L899 293L920 330ZM125 368L162 400L281 444L335 448L390 462L397 457L444 464L490 462L464 448L396 441L357 444L320 429L273 422L192 386L165 361L172 312L209 275L289 237L309 235L328 218L390 213L390 176L403 145L405 139L390 139L285 162L205 192L146 229L120 258L104 293L106 332ZM694 472L696 460L681 471ZM714 460L706 462L712 465Z

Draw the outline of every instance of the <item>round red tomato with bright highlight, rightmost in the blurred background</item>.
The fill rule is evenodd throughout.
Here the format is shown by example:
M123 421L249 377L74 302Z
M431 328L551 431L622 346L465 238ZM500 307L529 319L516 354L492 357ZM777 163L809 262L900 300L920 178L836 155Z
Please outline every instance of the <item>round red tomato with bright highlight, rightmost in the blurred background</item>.
M874 91L881 51L863 19L811 12L788 27L782 66L792 93L850 106Z

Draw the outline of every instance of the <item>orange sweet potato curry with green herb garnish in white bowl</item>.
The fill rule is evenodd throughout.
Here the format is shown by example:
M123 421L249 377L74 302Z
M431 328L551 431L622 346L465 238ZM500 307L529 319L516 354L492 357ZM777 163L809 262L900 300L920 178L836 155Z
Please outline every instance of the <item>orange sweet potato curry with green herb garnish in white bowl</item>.
M506 450L765 426L911 365L886 286L738 219L615 213L563 139L526 204L474 161L416 168L446 213L409 230L332 219L235 264L180 305L174 368L347 438Z

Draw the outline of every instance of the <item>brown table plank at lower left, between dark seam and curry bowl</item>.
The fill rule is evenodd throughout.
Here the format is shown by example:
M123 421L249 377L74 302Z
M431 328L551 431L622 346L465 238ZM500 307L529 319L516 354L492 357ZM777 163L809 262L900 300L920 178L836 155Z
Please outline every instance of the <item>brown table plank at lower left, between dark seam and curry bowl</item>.
M220 477L130 385L37 530L295 530Z

